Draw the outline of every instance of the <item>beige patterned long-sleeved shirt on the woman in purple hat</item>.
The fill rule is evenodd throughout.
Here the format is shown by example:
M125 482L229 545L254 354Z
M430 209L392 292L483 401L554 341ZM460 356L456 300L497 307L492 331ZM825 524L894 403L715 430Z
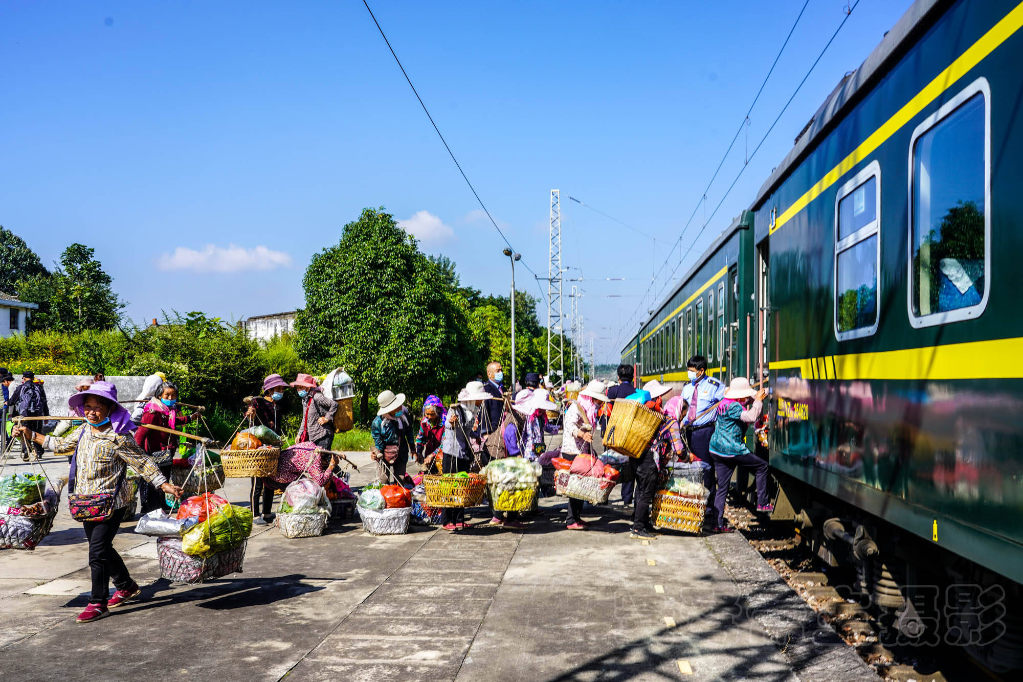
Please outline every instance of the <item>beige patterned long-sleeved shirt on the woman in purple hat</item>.
M118 485L118 480L130 464L139 471L142 478L160 488L167 483L167 478L160 472L160 467L149 455L135 443L131 434L117 434L113 428L95 434L92 428L83 424L85 429L82 442L79 444L79 434L76 431L70 438L51 437L49 446L58 455L71 455L78 447L78 473L75 479L76 495L109 494ZM80 430L81 430L80 429ZM126 507L132 502L131 486L121 484L115 509Z

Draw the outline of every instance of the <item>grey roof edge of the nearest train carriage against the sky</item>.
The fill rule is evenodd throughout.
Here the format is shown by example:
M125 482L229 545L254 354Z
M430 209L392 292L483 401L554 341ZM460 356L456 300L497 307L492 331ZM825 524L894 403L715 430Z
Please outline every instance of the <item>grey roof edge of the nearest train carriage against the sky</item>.
M760 186L757 198L752 209L756 210L782 184L782 181L810 152L815 143L837 124L859 100L857 94L865 93L874 85L874 81L884 74L889 60L899 53L900 47L913 39L942 0L917 0L913 6L899 18L891 31L885 34L874 51L863 60L859 69L847 74L838 86L825 99L825 102L810 119L810 122L796 138L795 145L785 160L771 172L767 180Z

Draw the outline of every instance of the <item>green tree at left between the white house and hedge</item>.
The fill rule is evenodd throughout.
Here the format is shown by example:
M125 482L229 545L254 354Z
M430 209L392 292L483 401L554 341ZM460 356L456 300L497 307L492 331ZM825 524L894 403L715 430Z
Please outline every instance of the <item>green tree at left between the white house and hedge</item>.
M94 248L73 243L52 274L18 280L18 297L40 304L32 318L34 327L74 333L117 326L127 304L118 299L110 286L114 280L93 254Z

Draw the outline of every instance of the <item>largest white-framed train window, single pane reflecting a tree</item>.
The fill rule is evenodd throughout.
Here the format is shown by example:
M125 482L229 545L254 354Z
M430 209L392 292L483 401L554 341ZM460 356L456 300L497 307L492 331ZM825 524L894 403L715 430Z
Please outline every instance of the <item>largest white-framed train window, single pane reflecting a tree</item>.
M909 321L976 317L990 282L990 90L977 79L913 133Z

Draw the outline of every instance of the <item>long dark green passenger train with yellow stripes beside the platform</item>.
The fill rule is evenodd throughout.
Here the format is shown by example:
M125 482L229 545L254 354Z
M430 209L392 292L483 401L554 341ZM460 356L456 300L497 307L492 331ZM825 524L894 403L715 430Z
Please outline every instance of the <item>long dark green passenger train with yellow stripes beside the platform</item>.
M1023 4L915 3L622 352L765 380L775 517L995 671L1023 668L1020 64Z

